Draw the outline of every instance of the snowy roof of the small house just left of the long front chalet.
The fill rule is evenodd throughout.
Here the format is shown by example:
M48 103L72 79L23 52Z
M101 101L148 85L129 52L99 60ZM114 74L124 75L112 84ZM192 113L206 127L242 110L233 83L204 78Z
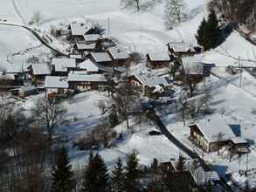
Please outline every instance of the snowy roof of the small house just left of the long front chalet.
M68 88L67 78L60 76L46 76L45 88Z

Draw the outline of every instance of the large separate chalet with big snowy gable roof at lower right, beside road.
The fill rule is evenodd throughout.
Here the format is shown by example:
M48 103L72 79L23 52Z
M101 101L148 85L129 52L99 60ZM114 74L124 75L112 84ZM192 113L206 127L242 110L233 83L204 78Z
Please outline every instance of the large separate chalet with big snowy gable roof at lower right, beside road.
M231 127L218 114L208 119L198 120L189 127L190 140L206 153L217 151L219 147L229 146L232 140L238 140ZM232 147L239 147L239 145L234 143Z

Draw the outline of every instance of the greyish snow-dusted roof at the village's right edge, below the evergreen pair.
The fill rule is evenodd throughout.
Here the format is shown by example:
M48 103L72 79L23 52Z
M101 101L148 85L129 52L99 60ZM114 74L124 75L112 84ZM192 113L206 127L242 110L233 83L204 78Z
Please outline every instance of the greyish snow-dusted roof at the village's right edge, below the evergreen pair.
M183 70L186 74L203 74L203 58L199 55L193 57L182 58Z

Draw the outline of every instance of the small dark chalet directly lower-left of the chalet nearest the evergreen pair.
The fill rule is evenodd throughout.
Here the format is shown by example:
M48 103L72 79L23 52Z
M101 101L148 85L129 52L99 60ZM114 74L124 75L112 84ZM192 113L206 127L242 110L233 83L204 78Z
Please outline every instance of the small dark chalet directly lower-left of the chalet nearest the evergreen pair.
M151 52L147 54L147 65L151 69L160 69L170 65L168 52Z

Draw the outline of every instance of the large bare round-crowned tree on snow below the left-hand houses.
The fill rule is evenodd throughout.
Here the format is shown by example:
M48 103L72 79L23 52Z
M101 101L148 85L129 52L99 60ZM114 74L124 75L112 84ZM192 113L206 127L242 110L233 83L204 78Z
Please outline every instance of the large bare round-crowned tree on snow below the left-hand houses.
M44 98L38 100L31 112L38 125L47 129L49 140L52 140L54 128L63 124L65 120L66 108L56 99Z

